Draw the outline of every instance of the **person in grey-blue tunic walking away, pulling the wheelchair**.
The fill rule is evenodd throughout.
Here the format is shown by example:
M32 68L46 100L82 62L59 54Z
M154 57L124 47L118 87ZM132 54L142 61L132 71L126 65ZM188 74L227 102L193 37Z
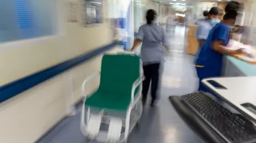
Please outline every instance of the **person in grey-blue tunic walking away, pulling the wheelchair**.
M142 103L145 104L147 100L151 81L151 106L155 105L155 101L158 97L158 81L159 78L161 78L159 77L159 69L161 63L164 61L164 47L169 47L165 30L163 27L158 26L157 23L155 23L156 17L156 11L147 11L147 24L139 28L137 38L134 40L134 44L131 48L131 51L133 51L142 42L141 61L145 75L145 80L142 83Z

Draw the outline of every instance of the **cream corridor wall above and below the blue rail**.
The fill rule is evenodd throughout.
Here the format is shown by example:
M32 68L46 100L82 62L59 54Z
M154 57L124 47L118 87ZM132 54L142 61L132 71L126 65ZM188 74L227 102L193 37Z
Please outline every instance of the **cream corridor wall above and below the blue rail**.
M108 21L95 27L82 27L81 1L69 0L79 5L78 23L66 22L65 1L56 1L59 22L57 35L0 44L0 85L113 43L113 33ZM73 105L82 96L97 88L99 78L86 85L86 92L81 90L81 85L91 73L100 70L100 61L101 55L94 56L89 61L0 103L0 142L35 142L54 124L69 115L73 111ZM0 88L0 92L1 90Z

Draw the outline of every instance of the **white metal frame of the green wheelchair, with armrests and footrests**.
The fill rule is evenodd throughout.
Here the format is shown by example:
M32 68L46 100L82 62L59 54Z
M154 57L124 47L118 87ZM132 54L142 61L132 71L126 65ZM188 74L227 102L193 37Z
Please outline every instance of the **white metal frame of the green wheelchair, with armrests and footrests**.
M91 75L90 77L86 78L84 83L83 83L83 85L82 85L83 86L82 89L84 90L85 84L87 82L89 82L90 80L92 80L93 78L97 77L97 75L100 75L100 72L98 74L94 74L94 75ZM133 82L132 94L131 94L131 103L130 103L129 107L127 108L125 119L124 118L121 119L122 120L122 127L125 128L125 131L121 132L121 135L120 135L118 140L116 140L114 142L111 140L111 143L127 142L127 138L129 136L129 134L131 133L131 131L133 130L135 125L137 123L139 123L139 119L140 119L140 117L142 115L142 108L143 108L142 107L142 102L141 102L141 92L142 92L142 81L143 80L144 80L144 75L143 75L143 70L142 70L142 62L140 61L140 77L136 81ZM134 92L135 92L135 89L137 87L140 87L140 88L139 88L139 91L137 93L137 96L135 96L135 98L134 98ZM84 136L87 139L91 139L89 137L90 133L88 132L88 123L90 121L90 117L93 114L90 111L91 108L88 107L87 114L86 114L86 119L85 119L85 101L86 101L86 98L84 99L84 104L82 106L80 128L81 128L81 131L84 134ZM135 114L131 118L131 112L133 110L134 110ZM98 114L100 116L103 116L102 120L101 120L101 123L110 124L109 121L111 119L115 119L116 118L115 116L107 116L104 113L105 113L105 110L102 110ZM106 132L106 131L99 131L98 132L98 136L94 137L93 139L97 140L99 142L108 142L108 132Z

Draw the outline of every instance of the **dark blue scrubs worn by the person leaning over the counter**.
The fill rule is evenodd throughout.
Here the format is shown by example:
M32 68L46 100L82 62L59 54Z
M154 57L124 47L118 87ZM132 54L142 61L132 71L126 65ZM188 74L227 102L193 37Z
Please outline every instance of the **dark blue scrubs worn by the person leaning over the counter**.
M199 91L210 92L209 89L202 85L202 79L221 76L223 55L213 50L212 43L217 40L222 40L224 46L226 46L229 41L229 36L230 28L223 23L217 24L210 31L196 60L196 71L200 80Z

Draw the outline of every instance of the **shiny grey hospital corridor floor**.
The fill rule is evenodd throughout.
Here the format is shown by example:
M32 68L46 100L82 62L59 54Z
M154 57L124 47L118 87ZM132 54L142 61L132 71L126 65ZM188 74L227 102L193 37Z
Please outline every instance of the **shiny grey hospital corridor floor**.
M194 57L185 53L186 28L167 27L167 32L172 47L165 55L161 98L155 107L145 107L140 128L134 128L129 136L129 143L205 142L188 127L169 102L168 97L171 95L185 95L196 91L198 81L193 67ZM68 117L38 143L87 143L80 131L79 121L79 113Z

